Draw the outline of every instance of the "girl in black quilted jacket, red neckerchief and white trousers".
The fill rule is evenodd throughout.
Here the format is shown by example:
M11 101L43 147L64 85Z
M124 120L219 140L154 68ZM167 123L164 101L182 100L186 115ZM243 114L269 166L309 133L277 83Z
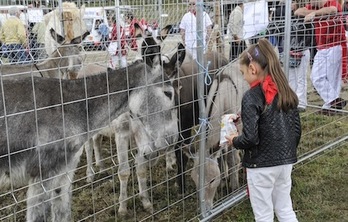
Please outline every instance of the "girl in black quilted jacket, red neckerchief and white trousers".
M250 89L242 100L242 134L227 136L243 149L249 197L256 222L297 221L290 197L292 165L301 137L298 98L270 42L260 39L240 56Z

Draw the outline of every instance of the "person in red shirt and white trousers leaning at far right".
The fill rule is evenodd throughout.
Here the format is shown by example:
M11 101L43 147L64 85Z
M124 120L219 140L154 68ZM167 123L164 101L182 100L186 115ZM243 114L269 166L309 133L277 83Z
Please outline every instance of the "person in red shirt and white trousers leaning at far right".
M337 0L311 0L306 7L295 11L296 16L307 22L314 20L317 53L314 57L311 81L324 100L321 113L331 115L333 109L343 109L347 102L340 97L342 79L342 44L347 44ZM326 19L316 17L332 15Z

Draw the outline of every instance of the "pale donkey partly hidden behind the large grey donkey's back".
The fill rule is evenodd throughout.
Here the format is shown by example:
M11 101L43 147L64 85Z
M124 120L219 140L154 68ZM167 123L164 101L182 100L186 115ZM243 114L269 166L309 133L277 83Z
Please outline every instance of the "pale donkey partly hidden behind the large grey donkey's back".
M45 61L38 64L26 65L2 65L0 73L9 77L42 76L50 78L75 79L82 67L80 46L89 32L76 37L71 42L65 43L64 38L53 29L50 30L52 38L59 42L60 46Z

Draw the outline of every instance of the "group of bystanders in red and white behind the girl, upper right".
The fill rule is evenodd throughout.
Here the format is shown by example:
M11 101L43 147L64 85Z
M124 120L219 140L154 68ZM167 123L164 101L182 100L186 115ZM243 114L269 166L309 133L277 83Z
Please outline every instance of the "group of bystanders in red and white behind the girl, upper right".
M243 5L243 0L237 2L229 17L230 60L238 58L246 47L241 31ZM313 33L311 45L304 44L304 47L296 50L291 48L288 55L288 81L299 98L300 111L305 111L307 107L307 71L310 65L311 82L324 101L321 112L331 115L337 113L332 109L343 109L346 106L346 100L341 98L341 84L348 81L345 7L346 4L337 0L292 2L292 19L302 19L304 24L311 24ZM272 9L270 24L285 22L285 2L277 2ZM281 62L284 60L284 34L271 33L267 36L277 47Z

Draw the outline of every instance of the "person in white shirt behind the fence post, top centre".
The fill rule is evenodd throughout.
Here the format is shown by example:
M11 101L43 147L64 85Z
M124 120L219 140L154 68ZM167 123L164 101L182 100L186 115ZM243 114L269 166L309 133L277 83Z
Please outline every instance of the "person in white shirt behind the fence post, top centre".
M206 12L203 12L203 46L206 51L208 41L212 32L212 21ZM196 0L189 1L189 10L182 17L180 25L180 34L185 44L186 51L197 58L197 27L196 27Z

